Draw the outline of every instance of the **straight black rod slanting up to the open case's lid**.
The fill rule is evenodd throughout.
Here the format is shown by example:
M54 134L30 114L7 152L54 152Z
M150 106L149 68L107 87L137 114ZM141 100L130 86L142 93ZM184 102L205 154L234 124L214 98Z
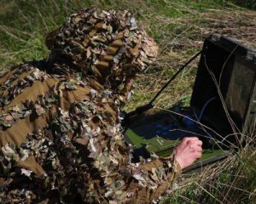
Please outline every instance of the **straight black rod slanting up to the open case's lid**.
M197 54L195 54L191 59L189 59L189 61L183 65L173 76L172 78L166 82L166 84L160 89L160 91L155 94L154 98L150 100L150 102L146 105L140 106L138 107L135 111L131 111L129 113L127 113L125 115L125 119L128 119L130 116L135 116L137 114L143 113L144 111L148 111L149 109L154 107L154 100L157 99L157 97L159 97L159 95L166 89L166 87L177 77L177 75L183 71L183 69L189 65L195 58L197 58L199 55L201 54L201 51Z

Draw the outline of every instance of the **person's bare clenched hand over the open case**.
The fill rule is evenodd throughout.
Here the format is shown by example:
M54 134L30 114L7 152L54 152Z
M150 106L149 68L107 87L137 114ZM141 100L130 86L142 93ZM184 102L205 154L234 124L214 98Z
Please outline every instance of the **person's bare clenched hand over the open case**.
M183 169L189 167L196 159L201 158L202 142L196 137L183 138L174 150L175 160Z

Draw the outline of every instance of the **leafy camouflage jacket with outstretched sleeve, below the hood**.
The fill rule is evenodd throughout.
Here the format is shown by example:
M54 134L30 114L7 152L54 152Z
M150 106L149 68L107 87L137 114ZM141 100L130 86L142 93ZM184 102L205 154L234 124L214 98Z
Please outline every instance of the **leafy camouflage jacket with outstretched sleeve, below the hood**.
M130 162L113 97L99 83L35 65L0 82L3 203L148 203L180 173L169 160Z

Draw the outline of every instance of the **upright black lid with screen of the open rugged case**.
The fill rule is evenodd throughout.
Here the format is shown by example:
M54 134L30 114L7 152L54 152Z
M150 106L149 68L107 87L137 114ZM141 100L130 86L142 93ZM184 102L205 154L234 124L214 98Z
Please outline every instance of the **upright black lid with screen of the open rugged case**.
M190 105L220 134L232 133L229 116L237 131L247 116L256 71L247 50L228 37L204 42Z

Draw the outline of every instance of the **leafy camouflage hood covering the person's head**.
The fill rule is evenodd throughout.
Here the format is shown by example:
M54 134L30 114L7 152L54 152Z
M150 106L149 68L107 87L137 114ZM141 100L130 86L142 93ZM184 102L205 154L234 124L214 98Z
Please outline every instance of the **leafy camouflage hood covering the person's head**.
M46 37L48 62L63 74L94 77L113 92L127 91L147 67L158 46L128 11L84 8ZM55 68L54 68L55 67Z

